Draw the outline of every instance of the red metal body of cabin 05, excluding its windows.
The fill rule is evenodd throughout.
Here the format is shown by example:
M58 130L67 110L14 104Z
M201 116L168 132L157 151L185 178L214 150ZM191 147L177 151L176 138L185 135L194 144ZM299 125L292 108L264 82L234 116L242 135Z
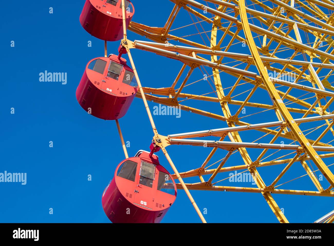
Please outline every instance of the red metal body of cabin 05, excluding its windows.
M131 157L121 162L115 171L115 176L110 185L105 189L102 196L102 206L107 217L113 223L159 223L174 203L176 189L174 189L174 195L157 190L159 172L162 171L169 174L168 171L159 164L156 156L153 155L152 159L146 157L148 157L148 154L143 152L138 157ZM118 168L128 160L137 163L135 181L117 176ZM156 178L153 181L152 188L140 188L138 186L140 163L142 160L156 164ZM172 181L175 187L175 182L174 180ZM139 205L140 202L139 204L136 202L136 197L150 202L147 203L146 207L141 206ZM149 209L149 206L152 208Z

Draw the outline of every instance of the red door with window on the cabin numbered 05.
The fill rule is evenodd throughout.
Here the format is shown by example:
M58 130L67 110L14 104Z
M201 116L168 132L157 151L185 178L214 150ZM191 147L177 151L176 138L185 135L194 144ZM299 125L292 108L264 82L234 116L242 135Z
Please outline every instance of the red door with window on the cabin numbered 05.
M156 166L146 161L141 161L134 203L138 206L152 209L154 196L154 180L156 177Z

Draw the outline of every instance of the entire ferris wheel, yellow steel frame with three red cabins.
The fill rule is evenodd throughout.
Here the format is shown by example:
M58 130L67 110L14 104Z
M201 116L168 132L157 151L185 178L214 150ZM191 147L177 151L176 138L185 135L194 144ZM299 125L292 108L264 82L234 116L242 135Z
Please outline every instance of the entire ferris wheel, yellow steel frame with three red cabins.
M112 222L160 222L174 203L177 189L185 191L203 223L191 190L261 193L281 223L288 223L289 218L272 194L333 197L334 2L170 2L174 7L163 10L170 15L160 27L133 21L135 5L128 0L86 0L80 15L82 27L105 40L105 57L87 64L76 97L95 117L116 120L126 157L103 193L108 218ZM176 26L178 18L189 21ZM189 27L197 32L190 32ZM144 40L129 40L129 31ZM118 40L118 55L108 56L107 41ZM162 56L166 62L179 61L175 80L158 88L145 87L135 67L139 61L131 55L133 49ZM194 71L200 71L203 78L191 81ZM210 90L192 86L199 83L209 85ZM150 152L139 151L129 158L118 119L134 97L144 102L153 140ZM197 128L192 122L196 131L162 134L148 101L191 112L201 122L219 121L223 127L206 124L203 129L202 124ZM171 145L192 146L194 151L205 147L209 152L198 156L190 170L178 170L168 154ZM158 151L174 174L160 165L154 154ZM238 155L242 163L230 161L232 155ZM295 172L296 166L302 167L302 175ZM274 177L263 176L268 174L262 172L264 168L274 167L273 173L280 170ZM255 187L222 185L246 173ZM198 182L187 182L193 177ZM298 183L301 179L309 179L311 189L303 188ZM127 209L136 211L135 215ZM333 223L334 215L318 221Z

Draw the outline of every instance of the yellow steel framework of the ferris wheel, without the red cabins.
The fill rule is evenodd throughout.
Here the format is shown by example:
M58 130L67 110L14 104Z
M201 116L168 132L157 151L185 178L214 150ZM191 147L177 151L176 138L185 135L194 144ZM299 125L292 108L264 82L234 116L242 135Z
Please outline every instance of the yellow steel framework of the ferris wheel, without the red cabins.
M170 1L175 5L163 27L150 27L136 22L131 22L128 27L129 30L150 39L150 42L133 42L128 40L124 17L124 39L122 40L122 46L128 53L130 63L138 81L139 93L137 94L137 97L143 99L154 133L153 142L156 146L161 147L162 152L175 173L172 175L173 178L179 181L179 183L177 183L177 188L185 190L201 221L205 222L205 219L192 198L189 190L261 193L278 221L281 223L288 223L288 220L281 212L281 209L274 200L272 194L334 196L334 175L329 167L324 163L325 158L334 157L334 148L330 145L330 143L322 141L325 136L334 136L334 114L331 114L329 111L329 107L334 101L334 87L331 86L328 81L328 79L331 78L330 76L332 75L334 69L334 64L331 63L331 61L334 60L334 42L331 39L331 36L334 35L334 14L326 14L322 10L323 8L334 10L334 4L331 1L320 2L318 0L296 0L291 2L288 0L269 0L272 2L271 5L273 5L273 8L271 8L269 5L266 5L258 0L251 0L253 4L250 4L249 6L245 5L244 0L206 0L203 1L203 4L193 0ZM215 4L216 9L207 6L208 3ZM296 4L298 4L300 8L296 8ZM256 10L256 8L252 7L253 5L259 6L263 9L263 11ZM125 16L124 0L122 0L122 7L123 16ZM282 13L282 8L286 10L286 14ZM201 25L201 22L212 24L211 30L203 32L205 35L209 32L211 33L209 38L210 46L207 46L205 42L204 44L193 42L190 38L187 39L187 36L178 37L171 34L171 27L175 22L177 15L182 12L181 9L188 11L189 14L191 13L196 17L198 22L193 23L196 27L196 24ZM304 9L309 14L303 12L301 9ZM212 14L213 17L208 18L206 15L202 14L200 11L203 10ZM253 21L253 18L255 18L258 23L261 23L261 26L249 23L250 20ZM226 25L223 25L224 23L228 23L228 26L226 27ZM275 26L275 24L279 25L279 27ZM232 31L233 28L236 28L236 31ZM222 37L217 40L221 31L223 32ZM305 32L307 37L308 35L313 36L315 42L303 44L300 31ZM198 34L201 35L203 33L199 32ZM257 36L263 37L263 42L261 42L260 46L257 46L255 42ZM168 40L176 40L182 43L182 45L174 46L168 44ZM222 47L223 42L228 45ZM231 46L240 42L247 44L250 54L228 52ZM324 49L320 49L321 42L326 42L328 44L325 51ZM277 45L273 49L272 46L275 43ZM172 58L182 62L183 66L170 87L142 87L131 56L131 49L153 52L160 56ZM288 59L279 57L282 49L291 50L291 57ZM297 59L296 57L298 55L302 55L304 60L302 61L301 59ZM210 60L205 59L205 56L209 56ZM306 61L306 56L309 57L310 61ZM222 62L225 57L226 59L228 58L229 60L232 59L234 62L238 62L239 65L232 66L229 63L223 64ZM240 67L240 64L245 64L245 68ZM189 70L186 69L187 66L189 67ZM212 75L209 77L215 85L213 92L216 94L216 97L212 96L212 93L199 95L185 92L192 72L197 68L202 70L202 67L204 66L212 69ZM254 69L256 69L257 72L251 72L254 71ZM322 76L325 78L321 80L319 74L321 71L326 69L330 71L327 72L325 76ZM284 72L296 73L297 78L293 83L280 79L279 75L276 78L272 78L269 77L268 70L278 72L279 74L283 74ZM180 87L175 89L185 71L187 71L185 79L180 82ZM230 90L227 95L224 93L224 90L226 90L226 88L224 88L226 83L223 85L220 79L221 73L225 73L236 78L235 82L228 83ZM232 99L235 88L243 83L252 85L253 88L246 91L244 100ZM268 92L270 98L272 99L272 104L264 104L261 103L261 101L256 102L256 99L252 96L256 90L260 89ZM305 91L307 93L306 95L310 95L309 98L313 98L313 101L309 103L306 99L294 96L294 90ZM186 133L175 136L160 135L155 127L154 120L147 103L148 100L168 106L180 106L182 110L190 111L202 115L203 117L210 117L225 121L227 127L218 130L209 130L207 132ZM222 109L222 115L190 107L184 103L181 104L181 101L185 100L201 100L219 103ZM253 102L253 100L255 100L255 102ZM293 107L287 106L292 103L294 104ZM236 111L231 110L229 108L229 105L231 104L238 105L238 109ZM277 116L278 121L263 122L263 124L258 125L241 121L239 117L241 110L244 107L257 107L263 111L273 111ZM231 111L234 113L231 113ZM297 119L291 115L292 113L300 113L301 116ZM325 123L317 129L325 126L325 130L323 130L315 140L307 138L306 135L308 135L308 133L306 133L305 130L302 131L300 129L300 126L304 126L308 122L322 122L323 120ZM127 157L119 122L116 121L116 124L120 133L123 149ZM276 127L276 129L270 129L271 127ZM241 140L239 132L252 130L262 132L265 134L264 136L273 135L273 137L268 144L254 145L254 143L244 143ZM219 137L219 141L224 142L190 139L212 136ZM226 141L225 138L229 141ZM292 143L295 143L293 145L275 145L278 138L288 139L291 140ZM205 158L204 162L192 170L181 173L178 172L176 166L166 151L166 147L169 145L184 144L201 146L203 143L206 147L212 148L210 154ZM209 167L206 167L206 165L210 162L218 148L228 152L218 161L219 164L216 168L209 169L212 165ZM257 158L252 159L248 153L249 148L263 148L264 150ZM278 149L279 151L290 149L292 151L290 154L293 154L293 158L263 161L263 157L267 154L269 149ZM327 153L318 154L316 151L327 151ZM226 166L229 164L229 157L234 153L240 154L244 164ZM280 186L277 185L277 183L284 175L286 175L290 167L296 162L300 162L300 165L302 165L305 169L306 173L304 176L308 176L311 179L315 185L316 191L277 188ZM317 167L317 170L313 169L312 163ZM258 168L280 164L285 164L284 167L282 167L281 173L269 184L266 184L262 179ZM216 183L221 181L215 181L219 173L241 170L243 170L242 172L249 171L252 175L254 175L254 177L256 177L255 182L257 188L216 185ZM330 184L328 188L323 188L315 176L315 172L318 171ZM207 181L205 181L203 177L206 175L209 175L206 179ZM199 183L185 183L183 181L183 178L195 176L199 177ZM330 223L333 221L334 217L327 220L327 222Z

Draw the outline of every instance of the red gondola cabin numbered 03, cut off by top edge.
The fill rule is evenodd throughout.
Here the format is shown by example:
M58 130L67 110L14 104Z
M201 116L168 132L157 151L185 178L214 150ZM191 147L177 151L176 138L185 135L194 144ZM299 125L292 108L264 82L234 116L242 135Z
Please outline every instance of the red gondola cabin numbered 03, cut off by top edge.
M135 12L132 3L125 0L126 25ZM107 41L123 38L121 0L86 0L80 15L81 26L94 37Z

